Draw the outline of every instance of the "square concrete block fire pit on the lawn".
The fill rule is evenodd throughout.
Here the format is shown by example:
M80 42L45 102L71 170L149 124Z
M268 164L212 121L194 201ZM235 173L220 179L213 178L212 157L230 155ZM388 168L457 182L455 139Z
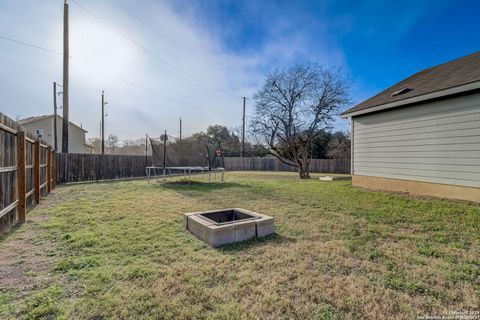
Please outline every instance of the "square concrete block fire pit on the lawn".
M261 238L275 232L272 217L240 208L184 214L185 229L212 247Z

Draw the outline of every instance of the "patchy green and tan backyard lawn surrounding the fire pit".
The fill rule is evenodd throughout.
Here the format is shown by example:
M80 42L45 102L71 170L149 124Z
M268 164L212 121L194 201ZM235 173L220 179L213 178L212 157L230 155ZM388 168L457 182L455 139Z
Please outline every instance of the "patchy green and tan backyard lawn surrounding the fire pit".
M277 233L212 249L184 212L242 207ZM227 173L59 186L0 238L0 318L415 319L480 310L480 207Z

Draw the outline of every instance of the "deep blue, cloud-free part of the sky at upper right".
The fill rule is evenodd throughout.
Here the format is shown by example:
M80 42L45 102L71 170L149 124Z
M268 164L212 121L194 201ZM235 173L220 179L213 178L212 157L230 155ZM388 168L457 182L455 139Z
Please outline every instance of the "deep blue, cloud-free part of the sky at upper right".
M212 1L200 3L213 28L227 27L222 39L234 51L254 52L277 32L300 30L311 51L298 60L342 66L355 101L480 49L479 1L223 1L213 8ZM326 61L325 50L340 58Z

